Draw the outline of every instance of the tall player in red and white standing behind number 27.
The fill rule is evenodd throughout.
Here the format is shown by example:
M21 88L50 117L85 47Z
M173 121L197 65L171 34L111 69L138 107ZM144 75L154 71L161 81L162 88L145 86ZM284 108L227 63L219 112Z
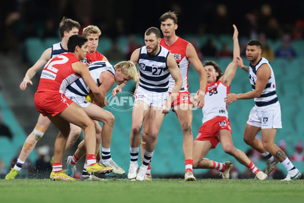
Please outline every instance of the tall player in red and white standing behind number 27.
M185 157L185 181L194 181L192 165L193 165L193 134L192 134L192 107L188 91L188 69L191 63L195 70L200 75L200 95L198 96L198 108L204 106L204 96L207 84L207 74L202 65L195 48L189 42L179 38L175 35L177 29L177 15L175 12L166 12L160 17L161 29L164 38L161 40L160 45L168 49L179 66L181 77L183 80L182 87L179 91L179 95L174 99L172 103L173 111L180 122L183 132L183 153ZM169 78L169 92L172 91L174 80ZM148 137L148 122L149 116L145 118L144 129L142 131L142 143L141 153L144 152L145 143ZM143 157L143 154L142 156ZM150 167L149 167L150 169ZM150 171L148 171L146 180L150 180Z

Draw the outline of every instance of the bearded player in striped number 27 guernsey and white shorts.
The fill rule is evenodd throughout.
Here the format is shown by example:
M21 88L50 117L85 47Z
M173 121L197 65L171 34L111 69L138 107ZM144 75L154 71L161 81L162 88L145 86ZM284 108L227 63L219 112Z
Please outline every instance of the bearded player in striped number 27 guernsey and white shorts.
M130 180L143 181L148 163L157 145L158 132L165 114L169 113L171 103L179 92L182 79L173 55L160 46L161 32L156 27L145 31L145 46L136 49L131 61L139 65L140 79L136 90L132 112L132 129L130 136ZM172 94L169 96L169 75L175 80ZM140 131L147 113L150 115L148 140L144 152L143 163L137 174Z

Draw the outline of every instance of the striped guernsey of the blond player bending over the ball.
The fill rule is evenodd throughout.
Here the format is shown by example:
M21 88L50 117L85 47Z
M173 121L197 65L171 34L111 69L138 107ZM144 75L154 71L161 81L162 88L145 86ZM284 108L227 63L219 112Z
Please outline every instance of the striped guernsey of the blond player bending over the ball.
M89 66L90 74L96 83L97 86L101 85L99 82L100 74L108 71L113 76L115 76L115 69L114 67L107 61L95 61L91 63ZM89 86L84 82L82 78L79 78L69 86L67 86L65 95L66 96L87 96L87 94L90 92Z

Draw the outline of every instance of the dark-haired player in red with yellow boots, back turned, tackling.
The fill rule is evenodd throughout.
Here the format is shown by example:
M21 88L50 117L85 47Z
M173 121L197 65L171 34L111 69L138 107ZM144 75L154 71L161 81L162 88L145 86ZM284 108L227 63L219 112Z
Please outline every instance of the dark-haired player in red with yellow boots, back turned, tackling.
M84 130L87 149L87 172L102 173L105 167L96 163L96 124L86 112L72 100L64 95L66 87L82 77L94 93L99 106L104 106L105 95L92 79L89 69L80 60L88 52L87 39L83 36L73 35L67 43L68 53L60 54L51 59L43 69L42 76L35 93L36 109L47 116L59 129L55 141L53 171L51 180L75 181L62 171L62 156L70 131L69 123L80 126Z

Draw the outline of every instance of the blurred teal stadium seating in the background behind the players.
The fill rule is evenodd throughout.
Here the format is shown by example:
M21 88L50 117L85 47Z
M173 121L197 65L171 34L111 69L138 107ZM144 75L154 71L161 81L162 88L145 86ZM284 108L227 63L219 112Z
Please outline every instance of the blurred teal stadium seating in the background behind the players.
M214 36L210 34L206 34L204 36L197 37L195 35L183 35L182 38L191 41L196 38L198 45L202 46L207 42L209 38L215 39L217 43L217 47L221 47L221 43L226 42L229 44L231 40L231 36ZM136 39L139 43L142 44L143 39L141 35L136 36ZM57 42L57 41L56 41ZM121 37L118 39L120 49L124 49L128 45L128 38ZM26 49L27 53L31 53L28 55L30 61L35 62L40 56L41 53L46 49L46 46L50 47L51 39L45 40L44 42L41 40L37 40L34 38L27 39L26 41ZM297 53L304 53L304 41L296 41L293 42L293 46L296 49ZM34 46L33 46L34 45ZM280 46L280 40L271 41L269 40L269 45L275 50L278 46ZM34 47L34 49L33 49ZM111 41L107 38L101 38L99 40L99 52L104 53L111 47ZM226 66L231 62L232 58L204 58L204 60L214 60L216 61L222 71L225 70ZM248 61L246 58L243 58L244 63L248 65ZM117 63L117 61L110 61L113 65ZM202 61L203 62L203 61ZM301 119L304 110L302 108L302 103L304 100L303 90L304 90L304 80L302 80L301 76L304 74L304 57L299 56L292 60L287 59L279 59L276 58L271 62L273 70L275 72L276 83L277 83L277 93L281 103L282 108L282 123L283 128L279 129L276 137L276 144L278 144L280 139L284 139L287 143L288 154L292 154L294 152L294 145L299 139L302 139L304 133L304 125L301 123ZM191 93L196 92L199 89L199 76L197 72L194 70L193 66L189 67L189 90ZM17 88L19 84L15 84ZM135 87L135 83L129 82L124 87L123 91L133 92ZM248 81L248 74L244 71L238 69L235 79L232 82L231 92L232 93L242 93L251 90L251 85ZM111 90L108 92L108 94ZM119 97L120 98L120 97ZM2 103L4 98L2 98ZM127 104L127 103L126 103ZM233 140L234 144L238 149L246 152L250 149L243 141L243 133L246 125L246 120L248 118L248 114L253 107L254 101L251 100L241 100L233 103L228 106L229 117L233 129ZM3 105L2 105L3 106ZM121 106L120 111L113 111L106 107L105 109L110 111L116 117L115 127L113 129L113 138L111 143L111 156L113 159L122 167L124 170L128 170L129 167L129 138L131 132L131 124L132 124L132 105ZM3 107L4 111L4 107ZM4 113L3 113L4 114ZM11 115L13 113L11 112ZM201 126L202 122L202 111L194 110L193 111L193 135L194 138L197 136L198 130ZM23 123L21 123L23 125ZM34 126L34 123L31 124ZM22 127L22 126L21 126ZM13 128L17 128L15 125ZM22 128L21 128L22 129ZM20 142L24 142L26 135L20 133L23 137L20 139ZM19 136L20 136L19 134ZM49 142L49 140L48 140ZM8 141L1 141L1 143L8 143ZM53 142L49 142L51 147L53 147ZM17 145L17 143L14 143ZM9 144L5 145L9 146ZM16 152L19 145L12 146L10 149L2 148L0 152L5 149L7 152L12 152L11 148L13 148ZM13 154L14 154L13 153ZM139 156L140 158L140 156ZM217 161L226 161L232 160L235 167L238 167L240 171L245 171L246 168L240 165L233 157L225 154L220 144L216 150L211 150L206 158L214 159ZM258 161L256 163L258 167L262 170L265 167L264 161ZM295 162L296 165L302 172L304 172L304 163L303 162ZM82 165L78 166L78 170ZM282 169L281 164L278 166ZM182 133L181 128L178 123L178 120L173 112L165 116L163 125L159 132L159 141L158 146L156 148L156 152L153 157L152 163L152 174L180 174L184 170L184 157L182 153ZM207 170L195 170L195 173L206 173Z

